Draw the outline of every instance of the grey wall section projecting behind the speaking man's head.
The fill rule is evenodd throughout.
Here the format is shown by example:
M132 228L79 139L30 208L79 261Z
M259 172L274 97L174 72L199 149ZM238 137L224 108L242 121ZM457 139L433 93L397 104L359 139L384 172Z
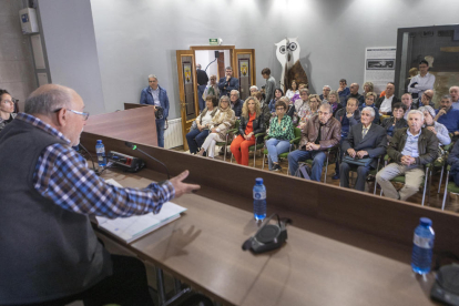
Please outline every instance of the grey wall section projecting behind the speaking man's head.
M74 89L90 113L104 113L91 2L39 0L38 3L51 81ZM118 91L116 86L111 90Z

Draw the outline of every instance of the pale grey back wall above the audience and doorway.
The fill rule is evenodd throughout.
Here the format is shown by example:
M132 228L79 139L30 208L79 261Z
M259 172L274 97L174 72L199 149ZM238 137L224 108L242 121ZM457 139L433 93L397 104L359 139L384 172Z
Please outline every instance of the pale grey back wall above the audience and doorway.
M57 30L55 40L67 52L79 55L69 49L78 47L75 39L82 39L78 28L91 24L88 14L80 18L72 11L75 0L40 1L55 6L49 6L49 19L68 20L67 29ZM86 8L89 1L78 0L82 2L79 7ZM122 109L123 102L137 102L142 88L147 85L146 75L155 73L160 85L169 92L173 119L180 116L175 50L206 45L210 38L222 38L224 44L239 49L255 49L261 86L265 83L259 74L263 68L271 68L276 80L280 76L274 43L297 37L312 91L320 91L324 84L336 89L341 78L361 84L365 48L396 45L397 28L457 23L459 1L91 0L91 9L105 110ZM76 63L88 65L83 57L79 61L67 58L74 64L64 59L54 61L65 68L59 72L59 79L74 73ZM82 74L75 79L88 83L81 80Z

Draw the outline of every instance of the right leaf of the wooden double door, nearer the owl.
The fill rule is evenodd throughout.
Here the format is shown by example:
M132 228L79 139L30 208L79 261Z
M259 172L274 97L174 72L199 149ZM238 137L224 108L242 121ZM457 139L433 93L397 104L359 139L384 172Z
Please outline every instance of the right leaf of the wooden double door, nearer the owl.
M256 84L255 49L235 49L234 78L239 79L241 99L245 100L251 95L251 86Z

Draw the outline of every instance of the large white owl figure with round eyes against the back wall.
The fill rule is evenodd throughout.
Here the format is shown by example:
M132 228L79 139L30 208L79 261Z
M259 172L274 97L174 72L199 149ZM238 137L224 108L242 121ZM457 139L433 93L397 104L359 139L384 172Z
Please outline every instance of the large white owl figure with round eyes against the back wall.
M286 92L290 86L290 80L296 80L297 84L307 84L306 72L299 63L299 51L302 49L297 38L283 39L275 45L277 47L276 57L282 65L280 88L283 91Z

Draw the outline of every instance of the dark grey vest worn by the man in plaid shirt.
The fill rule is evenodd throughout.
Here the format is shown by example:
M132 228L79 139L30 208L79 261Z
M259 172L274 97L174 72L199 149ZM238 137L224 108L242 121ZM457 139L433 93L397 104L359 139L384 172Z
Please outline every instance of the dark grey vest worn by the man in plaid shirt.
M20 120L0 133L0 305L76 294L112 273L89 217L33 187L40 153L58 142Z

